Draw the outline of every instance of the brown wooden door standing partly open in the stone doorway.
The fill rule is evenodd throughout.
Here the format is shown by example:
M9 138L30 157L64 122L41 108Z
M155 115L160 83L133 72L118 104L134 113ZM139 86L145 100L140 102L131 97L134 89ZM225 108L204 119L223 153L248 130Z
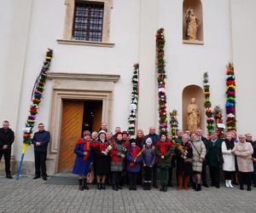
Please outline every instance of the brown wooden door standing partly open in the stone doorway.
M76 142L84 130L98 130L102 123L102 101L62 102L59 172L72 172Z

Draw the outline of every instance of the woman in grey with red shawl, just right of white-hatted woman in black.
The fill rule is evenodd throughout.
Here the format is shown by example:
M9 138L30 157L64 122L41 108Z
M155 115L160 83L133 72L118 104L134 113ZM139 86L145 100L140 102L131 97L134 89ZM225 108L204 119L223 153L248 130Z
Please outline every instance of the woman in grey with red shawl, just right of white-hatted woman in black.
M114 191L122 189L119 181L123 170L123 161L125 158L124 147L122 146L122 133L116 134L116 140L112 141L112 149L110 150L112 186Z

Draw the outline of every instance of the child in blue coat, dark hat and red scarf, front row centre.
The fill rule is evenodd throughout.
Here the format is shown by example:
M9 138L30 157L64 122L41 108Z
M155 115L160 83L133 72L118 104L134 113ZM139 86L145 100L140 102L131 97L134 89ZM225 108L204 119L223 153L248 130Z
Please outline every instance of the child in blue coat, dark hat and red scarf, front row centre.
M129 190L137 190L137 175L141 170L141 163L143 156L141 148L136 145L136 140L130 140L131 147L128 149L126 155L126 170L129 176Z

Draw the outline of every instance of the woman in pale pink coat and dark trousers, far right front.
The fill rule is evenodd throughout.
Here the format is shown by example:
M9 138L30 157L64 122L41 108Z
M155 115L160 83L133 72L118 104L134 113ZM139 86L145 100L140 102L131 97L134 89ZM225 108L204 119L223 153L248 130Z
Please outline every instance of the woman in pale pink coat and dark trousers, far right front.
M237 156L237 165L240 172L240 189L243 190L243 184L247 184L247 191L251 191L253 161L253 146L246 142L245 135L239 135L239 142L236 143L232 153Z

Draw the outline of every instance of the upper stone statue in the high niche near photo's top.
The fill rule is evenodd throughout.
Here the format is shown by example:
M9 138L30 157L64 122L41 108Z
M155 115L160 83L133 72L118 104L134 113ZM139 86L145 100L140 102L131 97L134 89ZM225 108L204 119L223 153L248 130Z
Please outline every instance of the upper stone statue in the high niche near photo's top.
M195 41L196 39L196 32L197 27L199 26L199 20L196 18L194 9L187 9L185 14L186 20L186 38L190 41Z

